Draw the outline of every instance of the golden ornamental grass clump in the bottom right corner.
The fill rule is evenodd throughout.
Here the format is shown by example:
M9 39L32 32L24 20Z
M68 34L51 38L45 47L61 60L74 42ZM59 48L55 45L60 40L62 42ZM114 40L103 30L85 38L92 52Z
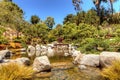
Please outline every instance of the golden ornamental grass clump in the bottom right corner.
M114 61L111 66L104 68L101 74L109 80L120 80L120 60Z

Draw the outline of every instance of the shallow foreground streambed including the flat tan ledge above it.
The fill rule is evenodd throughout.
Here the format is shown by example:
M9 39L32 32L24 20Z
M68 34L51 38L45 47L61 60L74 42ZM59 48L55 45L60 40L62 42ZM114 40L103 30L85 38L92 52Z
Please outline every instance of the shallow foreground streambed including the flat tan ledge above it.
M34 80L104 80L99 68L80 70L70 62L52 63L51 72L36 74Z

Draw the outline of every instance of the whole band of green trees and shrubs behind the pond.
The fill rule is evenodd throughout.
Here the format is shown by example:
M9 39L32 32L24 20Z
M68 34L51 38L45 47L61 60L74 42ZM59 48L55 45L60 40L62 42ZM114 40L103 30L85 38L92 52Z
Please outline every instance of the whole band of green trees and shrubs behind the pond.
M101 2L111 3L111 6L105 8ZM18 5L11 1L1 1L0 44L9 43L3 33L10 27L16 30L17 34L22 32L24 35L17 35L13 39L13 42L19 42L22 46L61 40L63 43L77 46L83 53L120 51L120 13L113 12L113 1L93 0L95 8L87 12L82 11L81 3L81 0L73 0L77 13L66 15L63 24L55 26L54 18L50 16L42 21L37 15L33 15L30 22L27 22Z

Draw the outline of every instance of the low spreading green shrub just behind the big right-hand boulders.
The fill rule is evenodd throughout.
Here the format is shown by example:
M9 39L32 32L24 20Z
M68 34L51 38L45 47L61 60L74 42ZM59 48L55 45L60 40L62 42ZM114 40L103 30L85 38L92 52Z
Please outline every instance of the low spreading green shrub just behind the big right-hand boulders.
M86 38L80 45L80 50L84 53L99 53L109 48L109 44L104 40L95 38Z

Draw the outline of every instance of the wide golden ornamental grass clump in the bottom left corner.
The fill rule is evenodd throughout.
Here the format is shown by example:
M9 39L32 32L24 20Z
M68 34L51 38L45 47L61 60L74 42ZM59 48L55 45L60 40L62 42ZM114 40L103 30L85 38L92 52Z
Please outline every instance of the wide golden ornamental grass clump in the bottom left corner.
M32 73L31 67L10 63L0 67L0 80L26 80L32 78Z

